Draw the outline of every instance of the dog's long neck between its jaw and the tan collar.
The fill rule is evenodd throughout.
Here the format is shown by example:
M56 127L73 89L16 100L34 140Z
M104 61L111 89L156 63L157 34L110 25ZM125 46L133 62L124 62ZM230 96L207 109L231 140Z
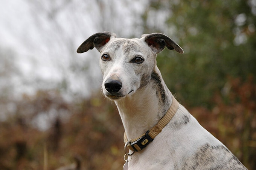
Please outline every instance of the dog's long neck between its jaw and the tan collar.
M115 101L128 140L152 128L167 112L172 94L155 66L149 83L131 95Z

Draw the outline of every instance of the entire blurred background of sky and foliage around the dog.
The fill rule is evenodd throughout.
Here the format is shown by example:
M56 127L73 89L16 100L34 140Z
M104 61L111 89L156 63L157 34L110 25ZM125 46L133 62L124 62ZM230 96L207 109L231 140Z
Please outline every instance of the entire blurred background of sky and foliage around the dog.
M256 169L256 0L2 0L0 169L122 169L123 126L101 94L89 36L160 32L183 49L157 65L178 101Z

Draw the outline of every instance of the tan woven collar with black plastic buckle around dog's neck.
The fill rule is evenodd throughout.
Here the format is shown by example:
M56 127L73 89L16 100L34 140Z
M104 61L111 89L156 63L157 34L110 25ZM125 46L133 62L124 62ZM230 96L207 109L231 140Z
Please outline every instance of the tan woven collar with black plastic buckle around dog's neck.
M146 131L143 135L137 137L136 139L131 139L128 141L126 133L123 135L123 140L125 143L128 142L127 147L132 151L140 151L144 149L154 138L162 131L162 129L171 121L172 117L175 115L178 109L178 101L173 97L172 104L166 114L158 121L154 127Z

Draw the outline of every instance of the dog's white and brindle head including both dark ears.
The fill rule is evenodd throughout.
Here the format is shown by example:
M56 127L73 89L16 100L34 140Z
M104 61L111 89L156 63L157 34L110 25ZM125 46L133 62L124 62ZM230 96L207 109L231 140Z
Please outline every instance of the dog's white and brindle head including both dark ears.
M93 48L101 53L102 89L111 100L132 95L150 82L156 55L165 47L183 54L182 48L161 33L143 34L140 39L116 38L110 32L90 36L77 49L83 53Z

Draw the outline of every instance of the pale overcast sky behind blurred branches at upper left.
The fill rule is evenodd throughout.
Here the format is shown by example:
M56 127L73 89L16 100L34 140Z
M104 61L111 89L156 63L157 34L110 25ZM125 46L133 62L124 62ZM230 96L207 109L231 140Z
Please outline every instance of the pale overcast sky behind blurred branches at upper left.
M76 49L104 30L119 37L140 37L140 16L146 7L143 0L2 0L0 61L11 66L2 64L9 73L0 71L0 89L12 84L10 95L51 88L90 95L101 85L99 53L93 49L76 54Z

